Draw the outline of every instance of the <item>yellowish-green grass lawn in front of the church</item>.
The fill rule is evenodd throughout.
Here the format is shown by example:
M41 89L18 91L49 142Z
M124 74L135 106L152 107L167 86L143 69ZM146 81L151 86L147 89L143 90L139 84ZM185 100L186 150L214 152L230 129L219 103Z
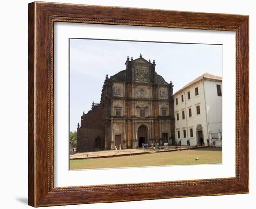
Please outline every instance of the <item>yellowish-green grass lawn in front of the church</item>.
M195 158L199 160L195 160ZM212 163L222 163L222 148L200 148L122 157L70 160L70 170Z

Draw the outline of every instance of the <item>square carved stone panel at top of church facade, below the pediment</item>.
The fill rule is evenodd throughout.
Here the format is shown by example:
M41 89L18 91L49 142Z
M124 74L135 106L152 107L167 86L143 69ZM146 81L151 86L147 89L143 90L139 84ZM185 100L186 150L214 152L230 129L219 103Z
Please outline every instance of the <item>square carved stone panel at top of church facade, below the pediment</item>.
M133 82L148 83L149 80L149 67L142 65L134 65L132 67Z

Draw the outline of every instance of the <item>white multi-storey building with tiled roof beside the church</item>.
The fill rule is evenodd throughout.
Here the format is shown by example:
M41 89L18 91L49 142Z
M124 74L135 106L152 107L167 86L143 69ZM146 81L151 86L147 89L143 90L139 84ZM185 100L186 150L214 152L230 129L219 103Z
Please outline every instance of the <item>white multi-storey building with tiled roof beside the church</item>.
M176 141L222 146L222 78L204 73L173 94Z

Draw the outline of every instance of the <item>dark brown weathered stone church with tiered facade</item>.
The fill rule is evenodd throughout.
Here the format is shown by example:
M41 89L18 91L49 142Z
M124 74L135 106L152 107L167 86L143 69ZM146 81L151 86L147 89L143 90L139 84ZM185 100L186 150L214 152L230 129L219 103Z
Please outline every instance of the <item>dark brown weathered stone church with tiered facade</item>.
M106 76L100 103L92 104L77 128L77 152L138 148L175 142L173 85L140 55L126 69Z

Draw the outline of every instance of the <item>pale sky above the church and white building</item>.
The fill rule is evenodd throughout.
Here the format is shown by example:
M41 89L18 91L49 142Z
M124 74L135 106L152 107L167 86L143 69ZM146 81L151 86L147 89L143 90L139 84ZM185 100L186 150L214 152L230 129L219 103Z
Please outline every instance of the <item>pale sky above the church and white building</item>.
M155 59L155 70L174 92L203 73L222 77L222 45L70 39L70 131L83 111L100 103L106 74L125 70L127 56Z

